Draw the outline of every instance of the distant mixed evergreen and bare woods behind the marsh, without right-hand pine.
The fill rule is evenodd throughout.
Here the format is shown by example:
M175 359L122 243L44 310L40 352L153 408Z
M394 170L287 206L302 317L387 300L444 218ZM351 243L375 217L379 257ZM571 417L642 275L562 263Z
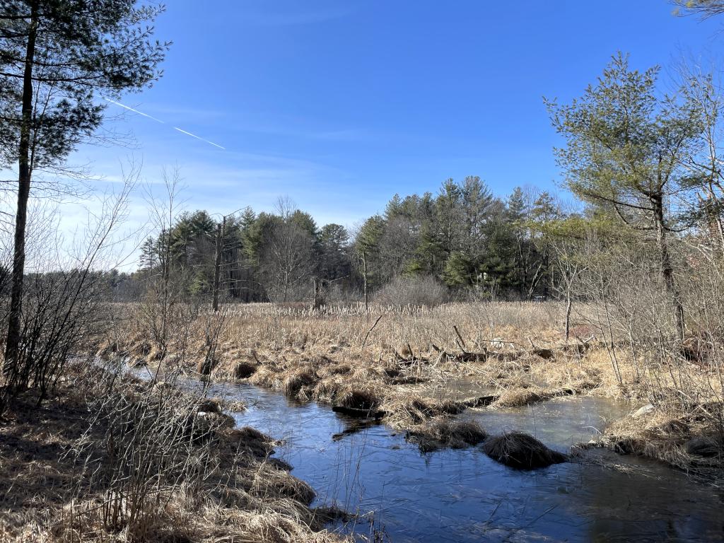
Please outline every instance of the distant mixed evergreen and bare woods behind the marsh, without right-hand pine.
M442 183L437 194L394 195L384 212L348 230L319 226L280 199L274 212L181 214L143 243L140 269L117 276L122 297L169 269L189 296L324 302L374 295L397 277L432 277L450 295L530 299L549 295L541 225L568 216L547 192L494 196L479 177Z

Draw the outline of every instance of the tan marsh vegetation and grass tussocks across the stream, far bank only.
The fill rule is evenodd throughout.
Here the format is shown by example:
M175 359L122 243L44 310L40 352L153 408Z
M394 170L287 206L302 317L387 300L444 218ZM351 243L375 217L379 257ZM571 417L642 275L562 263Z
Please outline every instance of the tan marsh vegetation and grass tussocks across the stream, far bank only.
M566 343L564 313L561 303L512 302L376 306L369 313L360 306L199 308L190 323L193 340L183 345L185 363L132 326L106 338L97 354L329 405L364 424L406 432L422 451L482 442L485 429L458 421L466 409L505 410L580 395L626 400L631 413L579 448L661 460L718 484L724 463L715 366L682 355L676 372L686 372L683 391L668 364L641 371L626 358L625 342L613 346L613 366L610 343L591 333L585 313L573 321L576 339ZM209 319L223 323L211 342ZM125 323L132 323L130 313Z

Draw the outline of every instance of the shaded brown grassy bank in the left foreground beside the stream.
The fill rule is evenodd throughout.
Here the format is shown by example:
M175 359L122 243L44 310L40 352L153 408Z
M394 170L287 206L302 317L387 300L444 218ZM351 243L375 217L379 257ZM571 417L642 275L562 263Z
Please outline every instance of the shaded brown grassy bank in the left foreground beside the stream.
M41 408L26 395L8 413L0 429L0 541L340 541L324 531L329 513L308 507L313 489L292 476L289 466L269 458L277 445L273 439L248 427L230 429L222 403L170 384L159 387L124 377L110 394L120 393L131 410L143 402L153 409L164 397L181 408L188 400L188 413L198 413L195 418L203 421L194 425L203 427L203 439L183 441L187 418L174 415L173 407L156 410L154 424L167 424L167 415L174 417L169 424L181 424L178 446L188 447L189 473L201 476L181 479L177 465L169 462L164 473L148 474L148 494L132 498L113 490L103 473L122 448L107 439L110 419L96 416L98 400L105 405L102 395L109 395L109 382L98 369L74 368ZM201 436L196 430L193 435ZM125 439L115 436L119 445ZM129 468L135 478L144 466ZM130 515L132 499L143 505L135 516Z

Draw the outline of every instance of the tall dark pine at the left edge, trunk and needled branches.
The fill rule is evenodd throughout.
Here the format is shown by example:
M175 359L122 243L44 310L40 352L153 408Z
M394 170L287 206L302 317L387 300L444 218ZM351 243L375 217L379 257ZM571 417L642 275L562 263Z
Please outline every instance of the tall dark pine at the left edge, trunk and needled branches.
M35 168L48 169L101 124L97 93L140 90L159 75L167 44L151 41L161 8L135 0L4 0L0 4L3 167L17 164L12 292L5 366L20 346L25 224Z

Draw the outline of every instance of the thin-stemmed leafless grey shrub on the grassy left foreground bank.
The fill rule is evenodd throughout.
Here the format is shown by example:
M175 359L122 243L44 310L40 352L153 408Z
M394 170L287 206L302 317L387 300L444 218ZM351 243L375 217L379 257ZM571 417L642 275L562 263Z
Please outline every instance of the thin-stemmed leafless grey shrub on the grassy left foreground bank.
M198 486L209 470L221 418L201 416L196 402L173 385L139 383L128 390L114 386L114 376L106 379L105 394L90 403L96 419L75 450L85 459L84 471L93 473L90 486L106 489L106 499L95 511L81 507L75 514L90 515L86 526L97 522L104 531L126 530L133 539L152 539L177 491ZM96 428L105 429L101 458L85 451L97 449ZM87 492L84 485L78 497Z

